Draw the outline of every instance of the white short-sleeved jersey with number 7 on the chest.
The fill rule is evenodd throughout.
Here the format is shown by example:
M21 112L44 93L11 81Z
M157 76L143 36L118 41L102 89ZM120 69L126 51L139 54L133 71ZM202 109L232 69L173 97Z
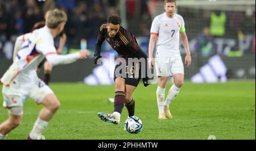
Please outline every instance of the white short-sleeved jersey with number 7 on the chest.
M150 32L158 35L156 57L180 56L180 28L184 25L184 20L179 14L170 18L164 12L155 17Z

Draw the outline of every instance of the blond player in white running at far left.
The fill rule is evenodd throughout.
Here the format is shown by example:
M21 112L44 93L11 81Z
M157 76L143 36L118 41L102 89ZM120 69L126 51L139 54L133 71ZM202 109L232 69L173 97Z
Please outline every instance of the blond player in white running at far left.
M38 139L60 107L60 102L53 91L38 78L36 69L45 57L50 64L57 65L70 64L89 55L88 51L67 55L57 54L53 38L63 31L66 22L67 14L64 11L59 9L48 11L46 26L24 37L24 42L17 46L20 50L13 64L1 78L3 106L9 110L9 119L0 125L0 139L4 139L21 123L23 101L27 97L31 97L44 106L27 139Z

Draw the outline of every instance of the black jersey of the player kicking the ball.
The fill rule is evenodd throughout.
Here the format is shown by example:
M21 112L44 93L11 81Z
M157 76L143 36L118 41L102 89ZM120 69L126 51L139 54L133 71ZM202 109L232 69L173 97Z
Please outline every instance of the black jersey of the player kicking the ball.
M147 55L139 47L135 36L129 31L120 26L115 37L109 37L107 24L102 24L98 32L98 39L94 49L94 56L99 56L101 53L101 45L106 40L111 47L118 53L118 57L125 58L144 58L147 60Z

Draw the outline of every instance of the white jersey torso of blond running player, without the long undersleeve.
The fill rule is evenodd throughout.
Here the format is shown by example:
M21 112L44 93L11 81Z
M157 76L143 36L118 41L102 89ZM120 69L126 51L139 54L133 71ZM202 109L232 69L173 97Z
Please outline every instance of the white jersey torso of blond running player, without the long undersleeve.
M13 64L1 78L5 86L9 86L15 78L19 82L29 83L37 77L36 69L44 57L56 54L53 37L47 26L24 35L22 41Z

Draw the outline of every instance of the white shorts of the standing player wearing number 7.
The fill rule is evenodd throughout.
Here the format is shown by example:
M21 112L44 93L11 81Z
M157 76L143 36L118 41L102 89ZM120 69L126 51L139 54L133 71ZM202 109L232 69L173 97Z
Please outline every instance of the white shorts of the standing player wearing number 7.
M184 66L181 57L156 57L156 75L160 77L172 77L174 74L184 74Z

